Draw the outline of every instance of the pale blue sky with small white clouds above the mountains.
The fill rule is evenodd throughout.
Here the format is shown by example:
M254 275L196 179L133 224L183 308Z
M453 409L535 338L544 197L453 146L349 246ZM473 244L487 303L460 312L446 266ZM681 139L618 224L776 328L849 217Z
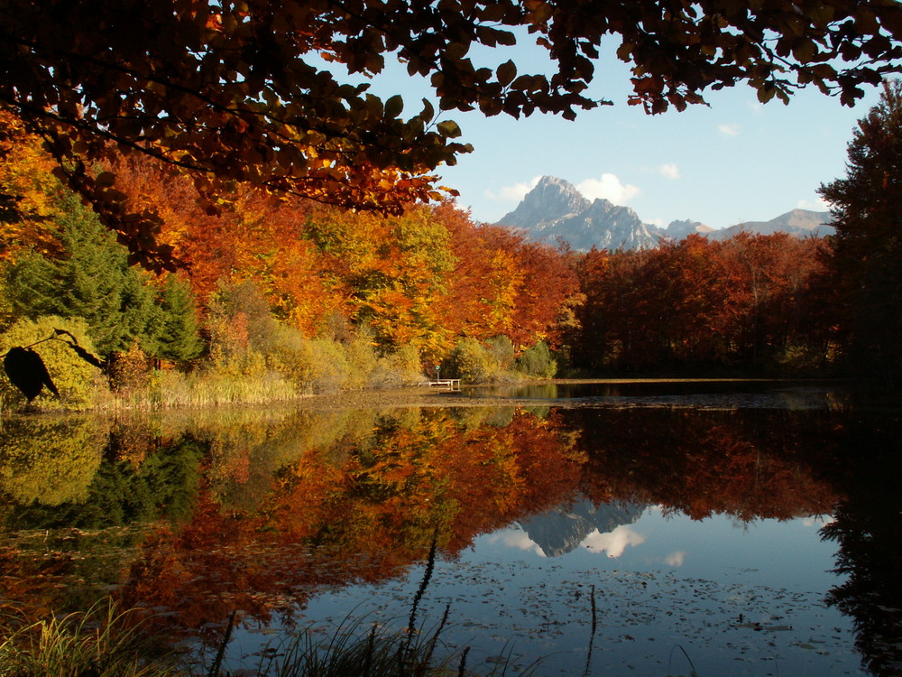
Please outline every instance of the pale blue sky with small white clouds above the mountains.
M648 116L626 104L629 71L608 54L596 67L591 91L614 105L583 112L574 122L445 114L474 145L456 166L439 170L444 184L460 191L461 207L492 223L550 174L575 184L587 198L629 206L659 226L692 218L721 228L790 209L825 210L816 190L844 175L856 121L879 99L879 88L869 88L849 108L811 88L788 106L777 100L762 106L753 89L740 85L706 95L710 107ZM529 47L488 58L500 63L511 55L520 73L546 70ZM428 95L402 70L390 69L373 86L381 95L390 90L408 102L405 114L419 110L419 98Z

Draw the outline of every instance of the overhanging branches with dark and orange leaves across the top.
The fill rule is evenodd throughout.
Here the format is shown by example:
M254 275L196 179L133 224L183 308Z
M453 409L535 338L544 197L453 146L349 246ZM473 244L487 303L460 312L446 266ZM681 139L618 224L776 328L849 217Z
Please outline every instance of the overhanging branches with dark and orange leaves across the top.
M50 0L3 11L0 102L153 266L170 264L154 238L159 218L127 207L115 171L92 169L111 153L147 153L188 172L207 209L232 181L386 211L437 197L429 172L469 146L432 103L411 109L351 84L388 60L428 78L439 110L573 118L607 103L589 87L609 35L632 70L630 103L651 113L740 82L762 101L813 85L851 104L902 57L895 0L752 9L727 0ZM518 41L547 51L548 75L504 60Z

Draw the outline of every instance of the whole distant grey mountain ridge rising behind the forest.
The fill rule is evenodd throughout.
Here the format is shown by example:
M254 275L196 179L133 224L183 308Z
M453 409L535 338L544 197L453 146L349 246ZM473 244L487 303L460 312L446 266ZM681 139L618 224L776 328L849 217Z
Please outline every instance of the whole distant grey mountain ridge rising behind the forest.
M554 176L543 176L516 209L495 225L520 230L529 240L557 246L566 242L576 251L652 249L662 238L681 240L697 233L716 240L740 232L770 235L824 236L833 233L830 212L793 209L769 221L749 221L715 230L691 219L671 221L667 228L643 223L629 207L607 199L586 199L576 187Z

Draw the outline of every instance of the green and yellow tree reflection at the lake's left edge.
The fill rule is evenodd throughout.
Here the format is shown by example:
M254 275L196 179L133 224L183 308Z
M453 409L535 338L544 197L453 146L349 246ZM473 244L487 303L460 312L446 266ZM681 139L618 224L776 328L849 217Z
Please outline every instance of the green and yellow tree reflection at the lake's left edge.
M0 502L4 531L16 532L13 538L0 540L4 597L39 616L87 608L105 595L106 587L118 584L135 547L143 541L146 524L162 518L187 519L197 493L203 454L197 441L152 441L155 449L144 450L143 463L135 466L119 458L118 447L107 446L101 423L82 423L85 430L72 422L62 429L69 432L72 444L82 446L56 465L52 457L41 459L41 453L65 449L57 443L62 423L5 426L5 433L34 433L31 438L14 439L9 447L13 460L35 459L37 468L47 475L69 473L77 480L78 492L63 492L57 487L64 484L51 484L52 492L46 489L34 499L18 491ZM54 443L41 446L48 441ZM16 468L13 465L7 473ZM35 471L25 477L39 487L46 481L46 475ZM23 486L32 485L23 482Z

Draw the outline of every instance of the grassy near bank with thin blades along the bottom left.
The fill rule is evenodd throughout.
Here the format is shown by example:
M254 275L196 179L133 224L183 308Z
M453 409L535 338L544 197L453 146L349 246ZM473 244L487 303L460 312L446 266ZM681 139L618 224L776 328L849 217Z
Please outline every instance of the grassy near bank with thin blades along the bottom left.
M216 656L196 656L166 648L151 631L142 609L121 609L106 600L84 613L32 623L7 616L0 625L0 674L4 677L226 677L224 660L235 617ZM411 617L411 620L413 618ZM331 636L300 631L264 650L241 674L259 677L475 677L510 673L504 664L489 672L467 665L468 650L443 653L437 626L392 631L373 623L346 624ZM531 674L527 668L521 675Z

